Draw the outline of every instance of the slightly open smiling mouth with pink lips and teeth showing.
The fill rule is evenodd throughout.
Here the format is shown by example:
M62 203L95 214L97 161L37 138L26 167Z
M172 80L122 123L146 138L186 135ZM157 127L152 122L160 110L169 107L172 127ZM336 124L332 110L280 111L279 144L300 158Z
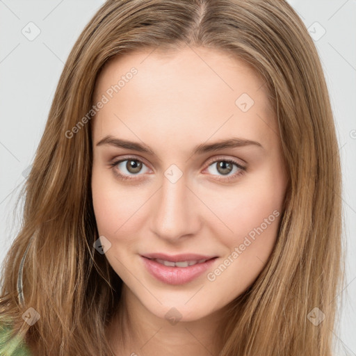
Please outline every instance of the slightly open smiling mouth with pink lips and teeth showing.
M202 275L208 268L216 262L218 257L204 257L202 259L186 259L186 257L147 257L140 255L147 272L155 277L156 280L165 284L179 285L186 284ZM202 257L202 256L199 256ZM188 257L191 258L191 257ZM172 261L180 259L180 261Z

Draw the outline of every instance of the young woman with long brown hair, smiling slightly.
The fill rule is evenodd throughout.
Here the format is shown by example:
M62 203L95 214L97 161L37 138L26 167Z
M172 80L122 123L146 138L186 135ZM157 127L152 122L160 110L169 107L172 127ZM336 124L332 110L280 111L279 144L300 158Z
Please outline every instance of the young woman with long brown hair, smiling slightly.
M26 184L3 353L332 355L340 172L288 3L107 1Z

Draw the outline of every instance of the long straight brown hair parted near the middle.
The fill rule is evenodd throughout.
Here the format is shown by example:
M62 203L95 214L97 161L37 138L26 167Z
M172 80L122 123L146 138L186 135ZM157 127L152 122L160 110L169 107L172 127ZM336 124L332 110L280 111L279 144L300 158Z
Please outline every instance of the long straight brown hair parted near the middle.
M70 138L68 131L92 108L109 59L183 44L222 49L264 78L289 173L277 242L257 280L229 304L219 355L331 356L343 286L341 164L316 47L282 0L111 0L99 8L67 58L26 181L22 229L3 267L0 321L36 355L112 355L106 326L122 281L93 247L91 121ZM32 326L22 318L30 307L40 314ZM313 309L325 315L318 325L309 321Z

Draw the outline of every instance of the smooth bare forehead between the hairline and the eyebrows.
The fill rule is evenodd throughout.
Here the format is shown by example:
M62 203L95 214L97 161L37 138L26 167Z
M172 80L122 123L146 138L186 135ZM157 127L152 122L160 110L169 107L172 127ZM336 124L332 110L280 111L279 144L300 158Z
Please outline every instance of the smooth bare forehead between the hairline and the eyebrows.
M263 79L250 65L216 49L147 49L113 58L99 74L94 104L103 95L108 101L93 120L96 141L108 134L134 138L133 133L147 132L152 142L213 135L268 146L277 138Z

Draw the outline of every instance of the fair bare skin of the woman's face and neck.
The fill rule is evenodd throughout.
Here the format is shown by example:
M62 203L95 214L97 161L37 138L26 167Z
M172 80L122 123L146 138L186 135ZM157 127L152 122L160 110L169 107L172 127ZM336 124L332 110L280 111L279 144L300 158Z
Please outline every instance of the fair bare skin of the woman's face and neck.
M224 308L256 280L277 238L287 184L277 119L264 81L251 67L202 47L169 54L136 51L111 60L97 80L95 102L131 67L138 73L92 120L95 218L99 235L111 243L105 256L124 282L123 308L132 325L124 350L118 318L108 336L117 355L216 355ZM254 100L246 112L235 103L243 93ZM107 135L145 143L156 156L97 146ZM232 137L263 148L247 145L191 156L196 145ZM113 159L138 159L143 165L138 172L127 170L127 161L116 165L133 178L125 181L110 166ZM248 168L227 181L241 169L233 165L224 174L219 159ZM174 184L164 175L172 164L182 173ZM279 216L232 259L245 236L273 211ZM229 256L233 262L213 281L203 273L172 286L147 272L139 255L149 252L218 256L207 273ZM175 325L165 318L173 307L181 317Z

